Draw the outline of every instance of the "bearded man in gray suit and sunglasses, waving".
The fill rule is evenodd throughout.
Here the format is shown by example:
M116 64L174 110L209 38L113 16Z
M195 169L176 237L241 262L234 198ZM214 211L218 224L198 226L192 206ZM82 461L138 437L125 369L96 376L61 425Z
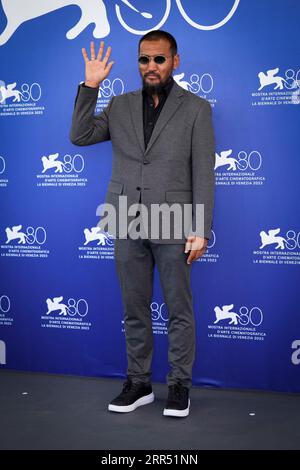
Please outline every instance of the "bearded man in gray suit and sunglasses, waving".
M103 57L102 41L96 56L91 42L90 59L85 49L82 53L85 82L78 87L70 138L75 145L112 141L113 168L106 202L117 211L121 210L121 196L127 197L129 207L139 204L150 212L154 205L192 207L193 231L189 234L176 235L176 227L182 225L174 222L167 237L161 228L154 237L151 218L146 223L142 219L147 236L131 237L128 229L124 237L120 227L116 229L115 262L124 307L128 368L123 390L108 409L126 413L154 400L150 304L156 264L169 313L171 370L163 414L184 417L189 414L195 356L190 270L192 262L206 251L212 224L215 149L211 107L174 81L172 72L179 66L176 41L171 34L156 30L139 41L142 89L113 97L104 111L94 116L99 85L113 65L108 62L111 48ZM198 206L203 209L201 227L195 220ZM137 211L131 226L139 216Z

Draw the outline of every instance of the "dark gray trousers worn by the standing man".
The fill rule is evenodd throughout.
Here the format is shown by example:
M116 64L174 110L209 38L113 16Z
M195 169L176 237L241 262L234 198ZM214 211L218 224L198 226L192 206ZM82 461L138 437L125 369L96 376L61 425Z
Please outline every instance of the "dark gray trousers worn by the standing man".
M168 385L190 388L195 357L195 319L190 286L191 266L184 244L159 244L147 239L116 239L114 255L124 308L127 376L151 381L153 333L150 305L157 265L168 308Z

